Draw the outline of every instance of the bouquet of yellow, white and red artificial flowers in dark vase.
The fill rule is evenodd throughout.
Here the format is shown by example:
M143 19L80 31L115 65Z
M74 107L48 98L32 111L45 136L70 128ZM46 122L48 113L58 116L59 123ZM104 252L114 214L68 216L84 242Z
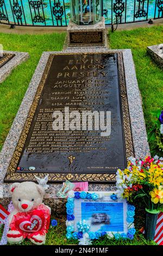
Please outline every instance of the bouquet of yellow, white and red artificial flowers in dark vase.
M128 167L117 170L118 195L133 203L139 198L148 211L163 210L163 162L158 156L143 160L130 157Z

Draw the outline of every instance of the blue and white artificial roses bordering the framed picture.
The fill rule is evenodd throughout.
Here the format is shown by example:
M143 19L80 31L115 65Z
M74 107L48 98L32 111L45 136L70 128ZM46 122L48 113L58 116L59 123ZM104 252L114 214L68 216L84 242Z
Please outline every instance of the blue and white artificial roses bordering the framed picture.
M128 204L127 206L127 233L118 233L118 232L105 232L105 231L90 231L91 225L86 220L81 220L77 223L78 232L74 231L74 199L88 199L88 200L98 200L102 199L102 194L97 194L95 192L89 193L89 192L74 192L70 191L68 192L68 198L66 203L66 212L67 212L67 220L66 220L66 238L67 239L76 239L79 241L79 245L91 245L91 240L99 239L99 237L107 236L108 239L115 238L117 239L134 239L135 235L135 227L134 227L134 216L135 216L135 206ZM110 199L112 201L117 201L118 197L115 193L112 193L110 196Z

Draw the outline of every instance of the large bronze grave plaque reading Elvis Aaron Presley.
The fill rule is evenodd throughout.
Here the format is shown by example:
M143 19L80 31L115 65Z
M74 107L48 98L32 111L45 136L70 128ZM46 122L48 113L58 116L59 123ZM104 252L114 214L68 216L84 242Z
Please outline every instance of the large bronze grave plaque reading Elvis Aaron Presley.
M114 182L129 156L122 53L51 54L5 182Z

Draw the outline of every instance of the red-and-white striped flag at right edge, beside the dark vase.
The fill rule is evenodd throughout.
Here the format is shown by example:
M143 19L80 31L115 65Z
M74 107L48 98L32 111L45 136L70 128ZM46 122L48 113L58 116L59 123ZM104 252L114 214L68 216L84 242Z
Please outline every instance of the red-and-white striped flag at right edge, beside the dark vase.
M158 243L158 245L163 245L163 212L160 212L158 215L154 241Z

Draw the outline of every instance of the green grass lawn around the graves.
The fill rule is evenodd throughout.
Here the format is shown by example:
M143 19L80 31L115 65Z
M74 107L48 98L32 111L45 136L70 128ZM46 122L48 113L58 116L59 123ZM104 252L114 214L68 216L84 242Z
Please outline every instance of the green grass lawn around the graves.
M161 108L163 106L163 72L147 56L146 47L149 45L161 44L162 38L163 26L109 33L111 48L131 48L133 52L137 80L142 94L147 131L152 129L153 126L150 112L153 109ZM54 33L51 35L10 35L0 33L0 44L3 44L4 50L26 51L30 54L30 59L12 71L12 74L0 86L0 149L7 137L23 96L26 93L41 53L43 51L61 50L64 44L64 39L65 33ZM150 147L151 149L155 148L154 142L151 142ZM144 219L140 222L140 216L141 215L137 214L135 218L137 230L139 230L141 224L144 223ZM56 216L53 216L53 218L58 219ZM70 245L76 243L74 240L66 240L65 229L64 218L59 218L58 227L49 230L46 244ZM1 234L2 228L0 228L0 238ZM24 242L24 245L28 244L30 244L29 241ZM139 231L137 231L133 241L108 240L104 237L104 239L93 241L93 244L155 245L153 241L146 241Z

